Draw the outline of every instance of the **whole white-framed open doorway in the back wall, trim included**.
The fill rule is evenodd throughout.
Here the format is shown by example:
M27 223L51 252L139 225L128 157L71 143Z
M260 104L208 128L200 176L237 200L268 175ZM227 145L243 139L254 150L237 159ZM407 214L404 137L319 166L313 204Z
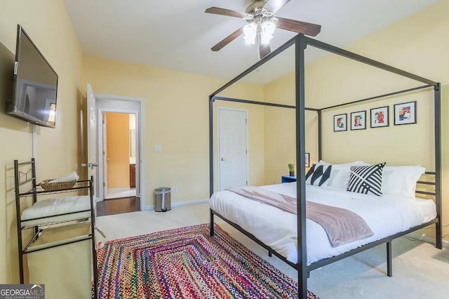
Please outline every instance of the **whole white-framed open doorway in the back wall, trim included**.
M95 98L96 123L98 124L96 126L97 161L99 164L96 200L98 204L114 206L114 213L126 213L130 210L126 208L126 211L122 211L123 204L130 199L132 202L126 206L130 206L133 211L143 211L146 207L145 185L142 184L142 181L145 180L143 172L145 156L142 155L142 152L145 152L144 142L142 142L145 126L144 119L141 117L142 111L144 111L144 99L98 93L95 93ZM105 117L106 114L109 115ZM130 114L132 114L131 117ZM121 132L119 138L115 138L116 133L119 132ZM108 145L107 140L110 141L111 137L113 140ZM114 138L119 140L114 140ZM113 169L116 166L114 165L114 150L122 152L120 173L114 172ZM116 185L117 180L121 185ZM131 187L134 185L133 181L135 181L135 187ZM129 196L128 192L133 192L134 196ZM116 205L121 208L117 210ZM105 215L109 215L109 212Z

